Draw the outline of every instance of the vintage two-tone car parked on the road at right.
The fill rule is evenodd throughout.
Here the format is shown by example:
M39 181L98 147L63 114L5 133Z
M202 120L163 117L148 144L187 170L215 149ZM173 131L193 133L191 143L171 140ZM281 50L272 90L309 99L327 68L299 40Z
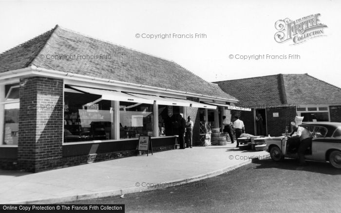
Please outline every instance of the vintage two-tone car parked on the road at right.
M341 123L315 122L302 124L313 136L311 147L305 152L306 160L329 161L335 168L341 169ZM297 158L297 146L286 136L271 137L266 140L265 150L272 160L280 161L284 157ZM290 144L291 143L291 144Z

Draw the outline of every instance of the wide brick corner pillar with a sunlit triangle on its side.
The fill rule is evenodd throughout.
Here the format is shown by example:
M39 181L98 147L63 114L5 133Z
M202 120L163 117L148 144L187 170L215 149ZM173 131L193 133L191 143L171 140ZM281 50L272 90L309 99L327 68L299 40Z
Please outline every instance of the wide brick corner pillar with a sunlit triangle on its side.
M29 172L62 163L63 80L20 79L19 168Z

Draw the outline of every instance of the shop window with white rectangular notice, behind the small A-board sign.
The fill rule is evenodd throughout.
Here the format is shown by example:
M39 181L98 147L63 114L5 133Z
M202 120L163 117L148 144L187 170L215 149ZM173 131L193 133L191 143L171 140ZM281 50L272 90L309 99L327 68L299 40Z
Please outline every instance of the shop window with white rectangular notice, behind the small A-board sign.
M120 101L120 139L152 136L153 120L153 105Z

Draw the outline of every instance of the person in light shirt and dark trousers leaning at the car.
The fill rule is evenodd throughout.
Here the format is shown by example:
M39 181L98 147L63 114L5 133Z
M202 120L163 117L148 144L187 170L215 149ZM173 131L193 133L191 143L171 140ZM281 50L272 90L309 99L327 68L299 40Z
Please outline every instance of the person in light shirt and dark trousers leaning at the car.
M311 146L311 142L313 137L311 136L309 130L302 126L298 126L297 124L293 126L293 131L290 134L290 137L296 132L296 136L292 137L293 139L299 138L300 139L300 146L298 149L298 155L299 155L299 160L300 160L300 166L305 166L305 159L304 159L304 154L305 150Z

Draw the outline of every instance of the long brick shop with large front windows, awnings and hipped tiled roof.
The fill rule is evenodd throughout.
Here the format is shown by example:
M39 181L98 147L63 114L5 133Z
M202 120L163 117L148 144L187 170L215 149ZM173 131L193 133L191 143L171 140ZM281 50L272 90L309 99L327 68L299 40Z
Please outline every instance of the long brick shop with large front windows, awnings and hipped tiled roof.
M58 25L0 54L0 166L38 172L174 149L177 117L218 127L237 99L180 65ZM90 160L91 161L91 160Z

